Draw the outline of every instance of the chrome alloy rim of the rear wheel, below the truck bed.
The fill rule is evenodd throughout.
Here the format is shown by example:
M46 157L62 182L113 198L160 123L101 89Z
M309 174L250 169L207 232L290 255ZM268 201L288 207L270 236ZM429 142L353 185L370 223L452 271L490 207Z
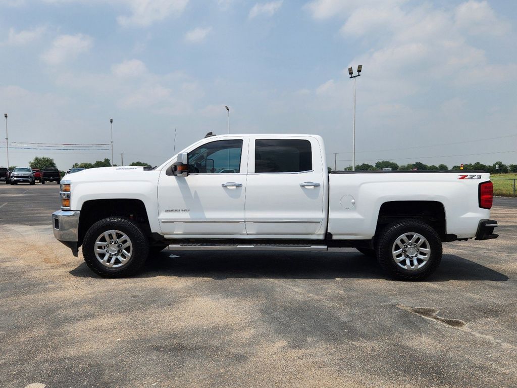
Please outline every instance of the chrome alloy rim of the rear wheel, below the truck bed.
M393 243L391 255L397 265L405 270L418 270L427 264L431 246L421 234L404 233Z

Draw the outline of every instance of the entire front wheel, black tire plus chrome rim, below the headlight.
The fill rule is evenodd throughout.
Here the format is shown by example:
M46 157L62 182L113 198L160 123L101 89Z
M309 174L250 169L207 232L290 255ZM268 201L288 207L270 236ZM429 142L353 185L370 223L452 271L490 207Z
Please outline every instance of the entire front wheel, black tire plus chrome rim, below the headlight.
M113 233L114 231L119 233ZM113 253L115 258L110 257L109 253L100 252L96 254L95 246L96 243L102 244L108 242L106 237L108 235L113 244L99 245L102 249L112 249L110 253ZM123 237L122 237L123 235ZM115 244L115 238L120 238L120 243ZM127 241L126 241L127 238ZM126 243L124 243L126 241ZM124 250L120 246L129 242L130 249ZM116 249L124 250L123 253L116 252ZM129 255L128 253L129 252ZM119 256L117 256L119 255ZM144 234L138 223L121 217L109 217L97 221L88 229L83 240L83 257L86 265L95 272L97 275L106 278L120 278L134 275L139 272L147 256L149 255L149 242L147 236ZM99 256L99 258L97 257ZM127 260L123 262L123 259ZM105 262L103 264L101 259ZM111 266L110 266L111 262Z

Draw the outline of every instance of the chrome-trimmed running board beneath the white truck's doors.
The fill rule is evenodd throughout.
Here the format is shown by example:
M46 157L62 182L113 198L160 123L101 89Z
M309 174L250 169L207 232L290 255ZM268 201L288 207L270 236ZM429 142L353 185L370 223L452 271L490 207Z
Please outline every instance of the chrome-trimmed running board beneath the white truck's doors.
M297 244L171 244L169 250L294 250L326 251L326 245Z

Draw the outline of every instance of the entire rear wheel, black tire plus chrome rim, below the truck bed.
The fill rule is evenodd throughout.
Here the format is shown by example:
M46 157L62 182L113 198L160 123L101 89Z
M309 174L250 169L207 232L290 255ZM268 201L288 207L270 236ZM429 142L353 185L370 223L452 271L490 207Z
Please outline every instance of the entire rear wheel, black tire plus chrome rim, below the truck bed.
M407 244L402 245L403 242ZM438 233L428 223L415 219L388 225L377 239L376 248L377 260L384 271L399 280L424 279L436 271L442 261L442 241Z

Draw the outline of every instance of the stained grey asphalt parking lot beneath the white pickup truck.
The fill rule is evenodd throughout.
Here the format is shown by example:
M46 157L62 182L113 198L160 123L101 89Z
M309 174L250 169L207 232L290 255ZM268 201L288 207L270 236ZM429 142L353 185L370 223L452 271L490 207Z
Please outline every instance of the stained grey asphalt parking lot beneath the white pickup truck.
M500 237L445 244L422 282L354 249L103 279L53 237L58 185L0 185L0 386L517 386L517 201L494 203Z

